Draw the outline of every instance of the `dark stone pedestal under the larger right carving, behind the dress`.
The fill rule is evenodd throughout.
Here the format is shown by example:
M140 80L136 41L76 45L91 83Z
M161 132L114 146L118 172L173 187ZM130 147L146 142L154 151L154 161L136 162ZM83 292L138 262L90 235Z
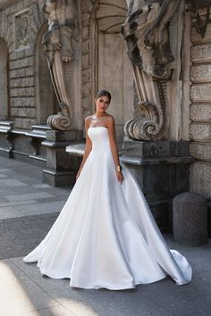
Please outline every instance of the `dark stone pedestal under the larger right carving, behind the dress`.
M122 162L138 181L162 231L172 231L173 196L189 190L188 141L134 141L124 138Z

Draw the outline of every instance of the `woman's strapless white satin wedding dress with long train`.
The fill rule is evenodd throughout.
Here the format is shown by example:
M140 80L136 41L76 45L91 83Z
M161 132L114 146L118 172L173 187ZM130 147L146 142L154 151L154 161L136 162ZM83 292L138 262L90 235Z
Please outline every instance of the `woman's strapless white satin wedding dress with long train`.
M169 250L144 195L122 165L116 179L105 127L89 128L92 151L63 210L43 241L23 260L72 287L112 290L164 279L190 282L186 258Z

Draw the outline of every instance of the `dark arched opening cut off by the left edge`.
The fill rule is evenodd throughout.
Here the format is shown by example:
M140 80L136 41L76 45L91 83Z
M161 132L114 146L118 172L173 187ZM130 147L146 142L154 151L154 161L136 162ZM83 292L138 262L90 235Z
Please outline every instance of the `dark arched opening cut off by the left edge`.
M6 42L0 37L0 120L7 120L9 115L8 49Z

